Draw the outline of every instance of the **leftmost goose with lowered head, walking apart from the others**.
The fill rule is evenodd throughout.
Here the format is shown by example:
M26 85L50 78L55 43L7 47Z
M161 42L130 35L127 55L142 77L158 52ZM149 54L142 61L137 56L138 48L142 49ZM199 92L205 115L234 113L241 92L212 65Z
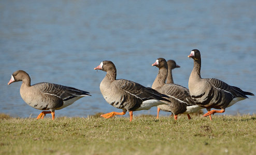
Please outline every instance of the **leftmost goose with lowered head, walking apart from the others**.
M84 96L91 96L87 91L53 83L42 82L31 86L30 76L23 70L13 72L8 85L18 81L22 81L20 95L27 104L38 110L49 110L41 112L36 119L42 119L51 113L54 120L55 110L60 110Z

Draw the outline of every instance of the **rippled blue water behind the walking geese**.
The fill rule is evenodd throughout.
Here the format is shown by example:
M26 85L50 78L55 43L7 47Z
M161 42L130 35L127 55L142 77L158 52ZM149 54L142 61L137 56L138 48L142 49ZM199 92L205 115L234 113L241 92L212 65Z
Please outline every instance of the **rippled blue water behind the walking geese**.
M255 1L1 1L0 113L36 117L40 111L20 97L21 82L7 85L12 72L25 70L32 84L51 82L91 92L56 111L87 117L121 110L99 91L111 60L118 79L151 86L155 59L174 59L181 68L174 82L188 87L192 49L202 55L202 77L215 77L256 94ZM253 114L255 97L226 108L225 114ZM134 112L156 115L157 108ZM161 112L161 115L169 113Z

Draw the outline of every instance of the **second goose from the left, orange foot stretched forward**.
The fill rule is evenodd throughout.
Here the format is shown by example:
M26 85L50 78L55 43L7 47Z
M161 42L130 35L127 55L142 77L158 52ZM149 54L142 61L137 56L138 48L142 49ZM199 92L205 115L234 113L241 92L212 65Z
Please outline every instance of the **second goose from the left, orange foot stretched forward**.
M104 118L124 115L126 111L129 111L130 121L132 121L133 111L149 110L152 106L166 104L163 101L169 101L166 95L160 94L152 88L125 79L117 80L117 69L111 61L102 61L94 69L107 72L99 85L104 99L110 105L123 110L122 113L111 112L101 115Z

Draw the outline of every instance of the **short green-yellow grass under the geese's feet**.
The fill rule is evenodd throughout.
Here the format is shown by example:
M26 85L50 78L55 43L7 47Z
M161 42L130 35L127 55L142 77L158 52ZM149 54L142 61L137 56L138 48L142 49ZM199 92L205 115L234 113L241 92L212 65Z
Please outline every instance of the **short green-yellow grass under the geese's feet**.
M212 119L5 116L0 154L255 154L256 115Z

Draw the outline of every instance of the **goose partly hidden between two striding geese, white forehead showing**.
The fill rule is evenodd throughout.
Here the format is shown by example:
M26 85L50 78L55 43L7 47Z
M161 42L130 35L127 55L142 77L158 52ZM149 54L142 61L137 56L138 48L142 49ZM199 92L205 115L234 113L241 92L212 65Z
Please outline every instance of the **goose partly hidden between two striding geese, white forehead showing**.
M167 62L164 58L158 58L152 66L159 68L152 88L169 96L168 100L170 101L168 104L158 105L157 118L161 109L162 111L172 112L175 120L177 120L178 114L187 114L188 118L191 119L189 114L197 112L202 107L195 104L189 94L189 89L176 84L165 84L167 78Z

